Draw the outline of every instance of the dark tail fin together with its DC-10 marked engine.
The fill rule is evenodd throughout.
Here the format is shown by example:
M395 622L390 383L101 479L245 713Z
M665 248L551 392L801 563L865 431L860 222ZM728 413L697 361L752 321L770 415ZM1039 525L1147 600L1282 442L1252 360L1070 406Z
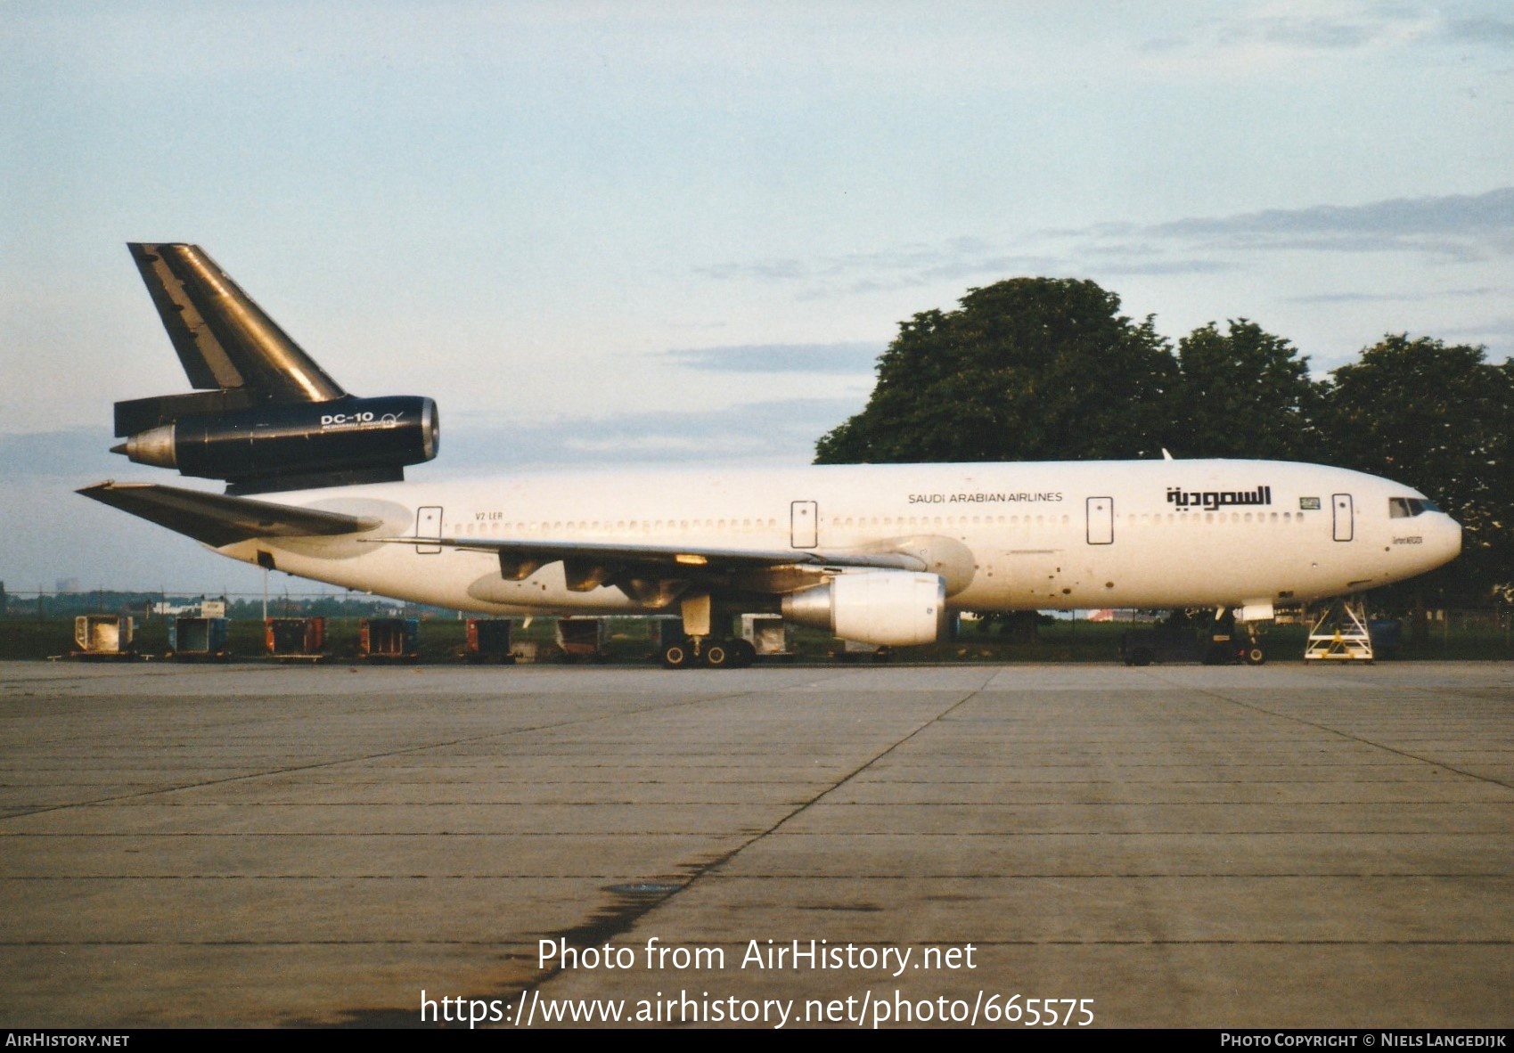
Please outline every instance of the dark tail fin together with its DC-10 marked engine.
M133 244L194 387L115 404L112 452L262 493L404 478L436 457L436 402L347 393L198 245Z

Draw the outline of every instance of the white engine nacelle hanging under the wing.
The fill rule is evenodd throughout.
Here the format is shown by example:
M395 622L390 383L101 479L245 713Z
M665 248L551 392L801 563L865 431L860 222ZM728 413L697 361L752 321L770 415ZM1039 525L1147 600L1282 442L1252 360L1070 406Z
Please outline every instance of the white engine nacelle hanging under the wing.
M934 643L946 634L946 582L914 570L848 570L784 596L783 616L860 643Z

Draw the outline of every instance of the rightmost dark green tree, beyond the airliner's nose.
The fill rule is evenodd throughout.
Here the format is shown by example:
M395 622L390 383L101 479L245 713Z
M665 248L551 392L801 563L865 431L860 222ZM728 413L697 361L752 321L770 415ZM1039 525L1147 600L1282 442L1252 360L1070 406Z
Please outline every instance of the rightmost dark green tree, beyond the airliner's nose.
M1463 525L1461 558L1431 582L1485 601L1514 582L1514 365L1481 346L1385 336L1335 369L1334 460L1405 483Z

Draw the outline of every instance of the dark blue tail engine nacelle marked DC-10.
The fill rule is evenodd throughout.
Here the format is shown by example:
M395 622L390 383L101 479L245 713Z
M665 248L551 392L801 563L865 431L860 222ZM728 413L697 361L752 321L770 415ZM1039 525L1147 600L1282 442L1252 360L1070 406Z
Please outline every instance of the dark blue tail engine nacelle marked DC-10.
M439 443L436 402L392 395L183 416L133 434L115 451L256 493L404 478L404 466L431 460Z

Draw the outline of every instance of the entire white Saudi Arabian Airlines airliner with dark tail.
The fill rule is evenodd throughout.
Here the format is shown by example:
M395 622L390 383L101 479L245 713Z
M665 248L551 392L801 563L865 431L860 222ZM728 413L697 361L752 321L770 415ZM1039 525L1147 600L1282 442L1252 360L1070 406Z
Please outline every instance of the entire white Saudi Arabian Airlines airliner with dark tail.
M736 611L848 640L937 640L952 611L1234 610L1358 593L1452 560L1425 495L1255 460L857 464L404 481L427 398L342 390L198 247L133 244L195 393L117 402L135 461L226 480L80 493L266 569L498 616L683 617L668 666L745 664ZM257 495L257 496L247 496Z

